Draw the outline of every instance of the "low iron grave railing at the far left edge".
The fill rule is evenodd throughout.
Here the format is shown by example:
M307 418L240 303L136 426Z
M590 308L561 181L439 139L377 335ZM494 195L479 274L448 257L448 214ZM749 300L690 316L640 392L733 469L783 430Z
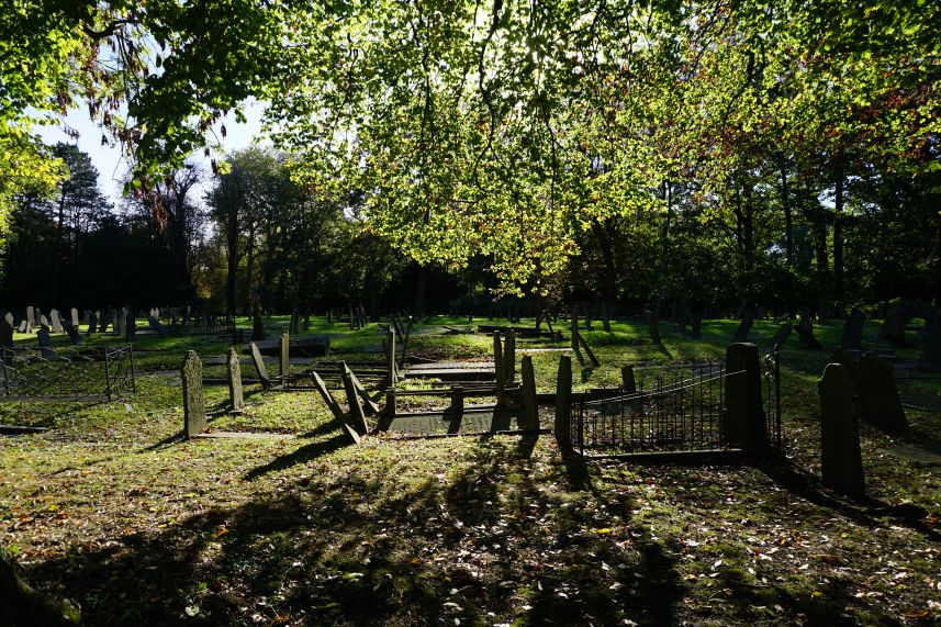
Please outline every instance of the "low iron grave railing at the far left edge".
M0 349L0 402L99 402L134 393L131 345Z

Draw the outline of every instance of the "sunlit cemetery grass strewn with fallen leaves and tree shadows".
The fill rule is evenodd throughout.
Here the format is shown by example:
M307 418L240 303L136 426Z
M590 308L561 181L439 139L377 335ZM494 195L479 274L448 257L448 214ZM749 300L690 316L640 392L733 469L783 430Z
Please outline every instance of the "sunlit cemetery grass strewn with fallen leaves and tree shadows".
M313 322L350 360L382 338L378 325ZM267 323L277 332L288 318ZM615 385L629 362L721 357L735 326L707 321L691 342L661 323L654 347L640 324L606 334L595 323L585 337L602 367L575 361L575 388ZM815 332L829 348L840 328ZM752 336L774 329L757 321ZM816 381L827 354L796 336L782 356L784 457L743 466L585 464L548 436L350 446L314 393L257 385L237 416L221 411L224 385L206 387L210 428L293 438L180 441L182 356L227 346L142 338L134 396L0 404L0 423L52 427L0 440L2 542L31 581L81 605L88 625L941 620L941 469L882 452L900 438L863 424L870 497L822 490ZM565 346L517 340L523 355ZM492 339L416 325L410 347L480 360ZM531 355L539 390L553 391L559 352ZM937 413L907 416L915 438L941 430Z

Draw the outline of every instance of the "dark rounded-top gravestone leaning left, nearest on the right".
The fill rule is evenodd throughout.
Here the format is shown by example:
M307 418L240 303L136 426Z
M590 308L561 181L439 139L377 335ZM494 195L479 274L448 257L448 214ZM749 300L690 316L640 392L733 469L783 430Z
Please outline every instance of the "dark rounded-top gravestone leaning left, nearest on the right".
M824 485L850 496L865 494L860 429L845 368L830 363L817 383L820 393L820 469Z

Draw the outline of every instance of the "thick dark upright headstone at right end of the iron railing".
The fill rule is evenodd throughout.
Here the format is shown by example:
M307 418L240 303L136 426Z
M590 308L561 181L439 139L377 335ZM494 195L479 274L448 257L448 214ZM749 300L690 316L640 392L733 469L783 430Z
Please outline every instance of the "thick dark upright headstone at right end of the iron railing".
M732 344L726 350L722 440L742 448L768 446L761 399L761 363L755 344Z

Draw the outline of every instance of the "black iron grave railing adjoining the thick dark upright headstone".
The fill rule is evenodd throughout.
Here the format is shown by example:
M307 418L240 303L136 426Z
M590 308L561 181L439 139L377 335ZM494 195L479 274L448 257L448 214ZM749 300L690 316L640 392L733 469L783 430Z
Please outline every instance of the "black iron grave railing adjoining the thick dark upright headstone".
M764 428L781 447L780 360L764 359ZM585 457L735 450L724 429L729 372L724 361L636 367L635 390L574 394L569 421L575 451Z

